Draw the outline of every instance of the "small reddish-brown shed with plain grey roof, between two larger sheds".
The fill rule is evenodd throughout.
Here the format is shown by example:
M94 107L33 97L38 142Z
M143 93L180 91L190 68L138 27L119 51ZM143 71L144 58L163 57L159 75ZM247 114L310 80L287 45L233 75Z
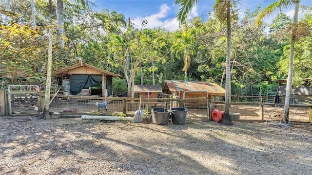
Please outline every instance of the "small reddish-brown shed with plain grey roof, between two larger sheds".
M162 95L161 85L135 85L134 92L138 95L143 95L143 98L158 98Z

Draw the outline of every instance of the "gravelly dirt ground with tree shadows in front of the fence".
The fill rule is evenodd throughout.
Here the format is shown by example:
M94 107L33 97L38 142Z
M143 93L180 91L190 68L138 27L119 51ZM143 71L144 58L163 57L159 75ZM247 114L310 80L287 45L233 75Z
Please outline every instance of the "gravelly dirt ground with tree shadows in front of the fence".
M0 175L311 174L309 123L233 123L0 117Z

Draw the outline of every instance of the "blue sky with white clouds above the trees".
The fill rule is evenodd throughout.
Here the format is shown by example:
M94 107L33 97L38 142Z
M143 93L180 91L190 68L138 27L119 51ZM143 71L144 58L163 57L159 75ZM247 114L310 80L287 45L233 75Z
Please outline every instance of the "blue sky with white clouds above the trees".
M137 28L141 27L142 20L147 20L147 28L165 28L169 31L175 31L178 28L179 22L176 20L176 14L179 9L178 5L175 5L175 0L89 0L93 2L97 7L91 6L93 11L102 12L104 9L108 9L110 12L116 11L125 16L125 18L131 18L131 21L136 24ZM241 0L237 5L240 14L249 8L251 12L255 7L260 5L260 9L269 5L271 0ZM213 5L215 0L199 0L197 5L192 9L190 18L202 17L208 19L207 13L213 11ZM312 6L312 0L301 0L300 5ZM292 18L293 9L289 8L285 10L288 16ZM300 15L300 14L299 14ZM269 18L265 18L265 22L270 23L274 15Z

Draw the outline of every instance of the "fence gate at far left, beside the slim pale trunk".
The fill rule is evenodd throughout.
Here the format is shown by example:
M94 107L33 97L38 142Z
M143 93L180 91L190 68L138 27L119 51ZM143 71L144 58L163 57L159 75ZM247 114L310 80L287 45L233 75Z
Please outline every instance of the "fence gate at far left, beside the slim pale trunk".
M9 115L35 115L38 112L33 106L38 104L38 85L9 85Z

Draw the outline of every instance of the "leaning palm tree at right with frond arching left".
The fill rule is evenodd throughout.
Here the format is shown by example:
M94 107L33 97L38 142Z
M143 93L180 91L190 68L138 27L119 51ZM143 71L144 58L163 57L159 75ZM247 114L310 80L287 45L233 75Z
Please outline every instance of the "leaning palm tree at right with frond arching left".
M294 52L294 43L296 40L296 24L298 23L298 12L299 12L299 2L300 0L275 0L272 4L265 7L261 10L261 13L259 14L258 18L256 18L255 23L259 24L261 23L261 20L273 14L273 12L278 11L280 8L287 8L290 7L290 5L294 4L294 15L292 20L292 39L291 39L291 46L290 46L290 54L289 54L289 70L287 75L287 84L286 84L286 94L285 94L285 105L284 105L284 111L283 111L283 117L281 122L282 123L288 123L289 118L289 106L290 106L290 97L291 97L291 89L292 89L292 72L293 72L293 52Z

